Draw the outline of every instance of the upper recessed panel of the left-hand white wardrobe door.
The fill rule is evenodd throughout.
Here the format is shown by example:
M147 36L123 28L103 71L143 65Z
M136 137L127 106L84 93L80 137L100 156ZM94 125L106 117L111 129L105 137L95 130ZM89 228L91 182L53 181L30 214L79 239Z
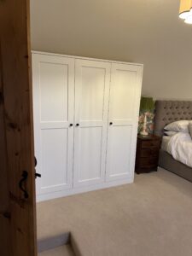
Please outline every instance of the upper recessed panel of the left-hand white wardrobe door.
M68 66L41 62L39 73L41 121L67 121Z

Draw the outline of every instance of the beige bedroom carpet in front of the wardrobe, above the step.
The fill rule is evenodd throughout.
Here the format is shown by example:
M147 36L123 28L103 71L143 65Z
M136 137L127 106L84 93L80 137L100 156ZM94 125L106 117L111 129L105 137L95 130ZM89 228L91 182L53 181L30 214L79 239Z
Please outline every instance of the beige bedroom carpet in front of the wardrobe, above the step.
M191 256L192 183L160 169L38 203L38 237L66 231L83 256Z

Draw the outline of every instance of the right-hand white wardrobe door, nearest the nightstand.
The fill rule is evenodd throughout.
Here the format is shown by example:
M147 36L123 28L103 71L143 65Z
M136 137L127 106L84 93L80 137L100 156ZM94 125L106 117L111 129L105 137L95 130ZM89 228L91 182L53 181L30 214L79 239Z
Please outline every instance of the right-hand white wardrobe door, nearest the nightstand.
M108 181L132 179L137 143L142 67L112 64L108 114Z

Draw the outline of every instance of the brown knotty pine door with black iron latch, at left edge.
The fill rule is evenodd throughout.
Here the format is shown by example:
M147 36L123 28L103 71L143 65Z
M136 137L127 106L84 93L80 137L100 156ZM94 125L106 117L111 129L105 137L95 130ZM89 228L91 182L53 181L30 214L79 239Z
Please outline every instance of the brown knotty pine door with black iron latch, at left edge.
M37 255L29 23L29 1L0 1L0 252L3 256ZM27 177L23 177L25 174Z

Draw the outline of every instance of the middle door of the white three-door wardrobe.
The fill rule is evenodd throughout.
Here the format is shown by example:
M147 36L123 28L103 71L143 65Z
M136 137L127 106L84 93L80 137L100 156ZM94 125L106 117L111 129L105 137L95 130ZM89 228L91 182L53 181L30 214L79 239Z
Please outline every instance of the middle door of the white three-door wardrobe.
M75 187L104 181L110 67L102 61L75 63Z

